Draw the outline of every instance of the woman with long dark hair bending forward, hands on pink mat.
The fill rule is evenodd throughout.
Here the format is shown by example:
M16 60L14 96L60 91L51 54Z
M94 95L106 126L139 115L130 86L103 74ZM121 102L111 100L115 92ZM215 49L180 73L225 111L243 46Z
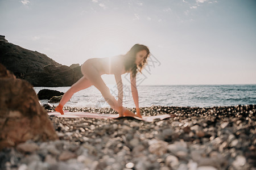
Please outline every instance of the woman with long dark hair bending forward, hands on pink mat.
M108 102L110 107L119 113L120 117L141 117L136 86L136 75L138 71L141 72L143 69L149 54L150 51L147 46L135 44L125 55L107 58L91 58L86 60L81 66L82 78L73 84L67 92L65 92L59 105L55 108L55 111L64 114L63 106L69 99L71 99L73 94L90 86L95 86L100 90L102 96ZM131 93L133 95L137 114L134 114L123 107L123 83L121 75L124 73L130 73ZM115 97L110 94L109 88L101 78L102 74L114 74L118 87L118 100L115 100Z

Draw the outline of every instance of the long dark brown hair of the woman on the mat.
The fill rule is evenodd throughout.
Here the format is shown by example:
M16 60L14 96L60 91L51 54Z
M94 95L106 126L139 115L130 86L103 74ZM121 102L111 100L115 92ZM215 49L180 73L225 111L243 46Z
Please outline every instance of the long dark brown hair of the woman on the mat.
M138 65L138 67L137 67L137 65L135 63L136 54L142 50L146 50L147 56L143 59L143 62L140 65ZM149 54L150 54L150 51L147 48L147 46L142 45L142 44L135 44L129 50L129 52L127 52L123 56L125 70L130 71L132 76L135 76L138 73L138 71L141 73L141 70L143 69L144 65L147 63L147 57L149 56Z

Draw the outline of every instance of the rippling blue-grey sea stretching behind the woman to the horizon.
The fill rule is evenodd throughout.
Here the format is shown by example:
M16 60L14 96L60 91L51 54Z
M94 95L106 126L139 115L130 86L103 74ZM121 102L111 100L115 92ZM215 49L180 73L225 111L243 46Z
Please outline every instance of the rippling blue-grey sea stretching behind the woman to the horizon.
M108 85L113 96L118 96L116 85ZM42 89L66 92L70 87L34 87L36 94ZM232 85L168 85L137 87L139 107L152 105L170 107L217 107L256 104L256 84ZM47 104L48 100L41 100ZM57 105L58 103L50 103ZM65 104L69 107L109 107L101 92L94 86L74 94ZM134 100L129 86L123 86L123 107L134 108Z

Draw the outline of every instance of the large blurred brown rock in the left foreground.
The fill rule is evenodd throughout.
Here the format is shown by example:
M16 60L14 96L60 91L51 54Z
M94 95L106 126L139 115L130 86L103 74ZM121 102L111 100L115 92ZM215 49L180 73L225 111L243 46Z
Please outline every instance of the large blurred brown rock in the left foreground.
M0 64L0 150L29 139L57 139L47 112L40 106L30 83L14 78Z

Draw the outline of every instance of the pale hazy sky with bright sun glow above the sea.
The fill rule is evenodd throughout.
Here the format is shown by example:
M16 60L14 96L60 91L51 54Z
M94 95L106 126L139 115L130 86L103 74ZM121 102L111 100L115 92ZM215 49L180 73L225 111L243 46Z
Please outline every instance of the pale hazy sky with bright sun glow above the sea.
M142 85L256 84L255 8L254 0L0 0L0 35L68 66L146 45Z

